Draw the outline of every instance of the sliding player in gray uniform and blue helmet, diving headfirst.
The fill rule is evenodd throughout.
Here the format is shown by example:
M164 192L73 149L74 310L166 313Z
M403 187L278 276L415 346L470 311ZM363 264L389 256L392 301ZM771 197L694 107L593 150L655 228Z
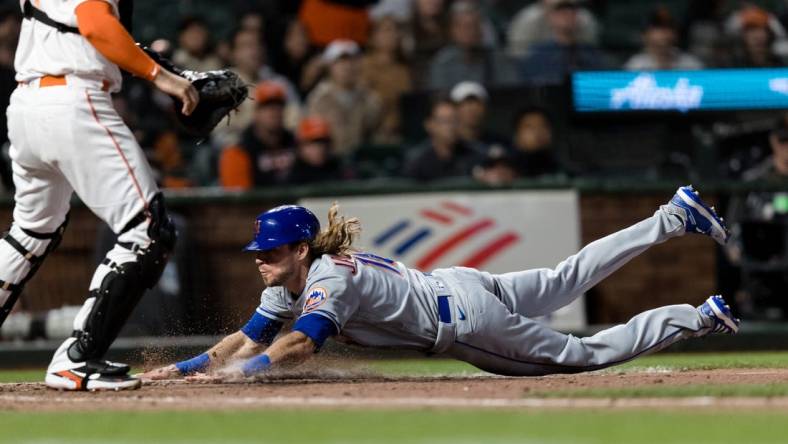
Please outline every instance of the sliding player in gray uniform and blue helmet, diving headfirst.
M555 269L500 275L463 267L422 273L357 251L359 221L339 218L335 206L322 231L299 206L267 211L255 227L245 250L256 254L268 288L249 322L206 353L143 378L255 375L302 362L336 335L363 346L447 354L500 375L577 373L739 328L721 296L700 307L656 308L586 338L533 320L571 303L653 245L687 232L724 243L724 222L691 187L679 188L650 218L589 244ZM295 320L292 330L275 340L288 320Z

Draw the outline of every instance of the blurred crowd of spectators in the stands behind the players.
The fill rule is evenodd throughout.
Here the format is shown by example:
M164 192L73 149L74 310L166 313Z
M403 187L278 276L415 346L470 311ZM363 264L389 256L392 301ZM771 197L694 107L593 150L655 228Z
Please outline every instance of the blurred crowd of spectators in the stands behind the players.
M174 38L144 42L248 83L252 100L210 139L181 132L169 99L139 79L116 106L167 188L578 175L559 149L567 124L555 104L522 100L502 123L496 94L566 85L575 70L776 67L788 56L784 2L679 2L681 15L676 2L641 3L632 47L609 25L626 8L604 0L231 1L226 37L212 17L184 15ZM14 7L0 13L6 104L19 21Z

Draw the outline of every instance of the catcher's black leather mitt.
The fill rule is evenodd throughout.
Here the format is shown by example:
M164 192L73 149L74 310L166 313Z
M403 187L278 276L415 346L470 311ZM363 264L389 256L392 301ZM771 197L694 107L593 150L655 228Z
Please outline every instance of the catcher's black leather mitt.
M215 71L181 69L156 51L149 48L142 49L162 68L192 82L200 94L197 108L188 116L181 113L182 104L180 100L173 97L175 116L178 118L178 122L187 133L193 136L208 137L216 125L231 111L237 109L249 96L248 86L233 71L228 69Z

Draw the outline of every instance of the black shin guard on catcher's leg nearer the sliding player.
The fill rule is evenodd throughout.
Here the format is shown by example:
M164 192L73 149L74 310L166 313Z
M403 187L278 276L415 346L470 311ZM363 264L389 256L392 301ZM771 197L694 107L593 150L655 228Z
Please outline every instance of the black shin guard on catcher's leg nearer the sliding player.
M72 362L99 359L107 352L145 290L156 285L167 265L177 233L164 209L161 194L156 195L143 214L135 219L150 220L147 229L150 243L141 248L118 242L118 246L134 251L136 260L116 264L108 257L102 262L110 271L99 287L91 290L74 320L76 341L68 348ZM127 228L134 227L127 225Z

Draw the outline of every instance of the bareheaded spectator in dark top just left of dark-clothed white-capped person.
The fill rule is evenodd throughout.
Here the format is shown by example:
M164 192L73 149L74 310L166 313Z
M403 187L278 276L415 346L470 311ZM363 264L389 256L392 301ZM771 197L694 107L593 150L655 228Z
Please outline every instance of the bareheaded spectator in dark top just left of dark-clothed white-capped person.
M443 98L433 102L424 122L428 138L412 150L405 175L421 181L470 177L482 156L460 140L457 126L454 102Z

